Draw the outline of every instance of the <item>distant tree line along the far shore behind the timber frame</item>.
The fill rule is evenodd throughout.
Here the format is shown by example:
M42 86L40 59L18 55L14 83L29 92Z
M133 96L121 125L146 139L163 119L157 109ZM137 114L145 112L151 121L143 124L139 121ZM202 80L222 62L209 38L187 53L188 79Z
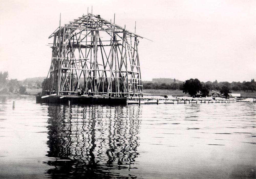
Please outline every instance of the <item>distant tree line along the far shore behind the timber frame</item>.
M20 93L26 94L26 89L41 89L44 84L45 77L35 77L35 78L27 78L25 80L18 81L17 79L8 79L8 72L0 72L0 94L8 94L8 93ZM189 79L191 80L191 79ZM143 81L144 89L166 89L166 90L183 90L186 89L184 87L189 86L188 82L179 81L171 78L154 78L154 81ZM199 86L196 88L196 91L200 92L202 95L208 95L209 90L221 91L224 93L225 91L256 91L256 82L254 79L251 81L243 81L243 82L218 82L215 80L214 82L200 82L198 79L192 79L192 81ZM198 81L197 81L198 80ZM164 81L164 82L163 82ZM186 84L187 82L187 84ZM191 81L190 81L191 82ZM104 88L106 85L104 85ZM47 87L46 87L47 88ZM189 87L189 88L193 88ZM188 93L188 91L187 91Z

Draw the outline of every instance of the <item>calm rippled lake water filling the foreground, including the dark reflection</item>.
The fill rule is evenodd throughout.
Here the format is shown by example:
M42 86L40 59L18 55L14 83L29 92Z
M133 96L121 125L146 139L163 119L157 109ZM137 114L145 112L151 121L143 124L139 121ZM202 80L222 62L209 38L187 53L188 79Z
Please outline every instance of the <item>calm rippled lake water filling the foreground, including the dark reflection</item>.
M0 178L255 178L255 103L35 101L0 98Z

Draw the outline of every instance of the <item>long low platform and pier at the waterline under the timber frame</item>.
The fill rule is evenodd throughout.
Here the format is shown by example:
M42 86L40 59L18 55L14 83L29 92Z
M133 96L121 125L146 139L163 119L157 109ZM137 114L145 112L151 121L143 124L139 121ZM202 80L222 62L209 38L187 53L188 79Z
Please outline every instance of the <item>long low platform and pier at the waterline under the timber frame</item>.
M142 98L126 97L106 97L106 96L88 96L88 95L45 95L37 96L37 103L60 103L60 104L110 104L110 105L125 105L125 104L190 104L190 103L233 103L236 99L225 98L191 98L191 97L153 97L145 96Z

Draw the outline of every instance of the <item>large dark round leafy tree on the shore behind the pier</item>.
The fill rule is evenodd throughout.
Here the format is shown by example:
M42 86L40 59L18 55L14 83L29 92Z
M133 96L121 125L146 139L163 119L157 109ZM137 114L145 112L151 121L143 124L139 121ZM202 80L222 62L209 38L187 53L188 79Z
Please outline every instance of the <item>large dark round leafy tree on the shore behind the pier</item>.
M189 94L190 96L196 96L196 93L198 93L202 89L201 82L196 78L190 78L185 81L185 84L183 85L183 92L185 94Z

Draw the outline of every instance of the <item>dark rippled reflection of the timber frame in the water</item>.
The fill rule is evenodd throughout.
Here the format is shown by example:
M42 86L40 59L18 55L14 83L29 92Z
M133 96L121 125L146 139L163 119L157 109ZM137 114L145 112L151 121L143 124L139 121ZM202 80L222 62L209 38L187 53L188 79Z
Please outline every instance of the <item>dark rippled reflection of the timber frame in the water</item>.
M47 162L52 177L121 177L138 153L138 106L49 106ZM112 171L110 171L112 170ZM127 175L129 178L136 176Z

